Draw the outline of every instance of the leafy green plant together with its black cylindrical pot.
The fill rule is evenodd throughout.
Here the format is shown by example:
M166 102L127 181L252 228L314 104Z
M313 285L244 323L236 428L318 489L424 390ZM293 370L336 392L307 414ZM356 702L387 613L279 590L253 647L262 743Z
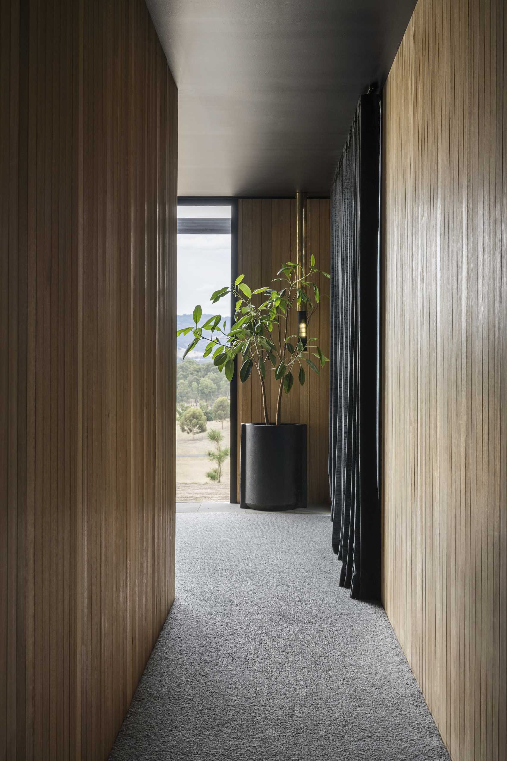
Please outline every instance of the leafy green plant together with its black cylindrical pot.
M212 355L218 370L229 381L239 366L241 383L252 371L260 378L264 422L241 425L241 507L266 510L306 507L306 424L281 422L282 393L290 393L297 382L305 384L309 368L319 374L319 365L329 361L317 338L307 338L308 325L320 303L314 275L314 256L304 272L301 265L287 262L277 272L272 287L252 290L239 275L234 284L225 285L211 296L215 304L232 294L235 299L231 330L222 324L222 316L209 317L200 324L202 308L193 310L195 327L178 330L177 335L192 333L183 360L202 339L208 341L203 357ZM329 278L327 272L322 274ZM262 297L260 296L262 294ZM254 299L253 297L259 298ZM255 303L260 301L259 304ZM298 335L288 335L289 314L298 310ZM279 382L274 421L269 419L266 400L266 374L273 373Z

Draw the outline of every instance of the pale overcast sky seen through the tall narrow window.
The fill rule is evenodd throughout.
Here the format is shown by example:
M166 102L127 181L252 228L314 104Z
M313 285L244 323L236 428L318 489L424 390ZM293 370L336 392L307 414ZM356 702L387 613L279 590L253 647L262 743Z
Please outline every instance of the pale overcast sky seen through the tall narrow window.
M230 217L230 206L178 206L179 217ZM200 304L204 314L231 313L230 297L211 304L213 291L231 283L230 235L178 235L177 314L192 314Z

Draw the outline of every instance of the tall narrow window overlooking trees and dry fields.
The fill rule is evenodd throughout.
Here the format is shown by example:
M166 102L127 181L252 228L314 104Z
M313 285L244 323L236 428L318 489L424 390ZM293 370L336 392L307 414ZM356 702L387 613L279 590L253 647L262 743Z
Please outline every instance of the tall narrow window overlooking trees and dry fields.
M220 314L228 330L231 301L212 304L213 291L231 282L231 205L178 205L177 328L194 326L193 309ZM228 502L230 493L231 384L204 358L208 341L185 357L193 336L177 339L176 499Z

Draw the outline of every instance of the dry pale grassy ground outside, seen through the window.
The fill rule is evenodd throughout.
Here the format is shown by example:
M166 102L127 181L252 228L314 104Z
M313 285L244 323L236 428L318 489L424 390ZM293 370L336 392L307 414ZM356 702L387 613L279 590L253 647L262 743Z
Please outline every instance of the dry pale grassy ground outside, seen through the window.
M224 437L222 446L229 446L229 421L222 423L212 421L207 430L218 428ZM228 502L229 501L229 460L222 465L222 481L213 483L206 478L206 472L214 463L207 457L209 449L214 444L208 440L206 433L182 433L180 426L176 428L176 501L177 502Z

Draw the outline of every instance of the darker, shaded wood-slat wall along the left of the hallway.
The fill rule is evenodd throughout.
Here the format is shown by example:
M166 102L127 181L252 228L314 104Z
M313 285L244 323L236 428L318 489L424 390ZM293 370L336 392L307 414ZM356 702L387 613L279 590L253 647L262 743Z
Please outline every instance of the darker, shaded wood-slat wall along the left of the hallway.
M174 599L177 90L140 0L0 0L0 759L105 759Z

